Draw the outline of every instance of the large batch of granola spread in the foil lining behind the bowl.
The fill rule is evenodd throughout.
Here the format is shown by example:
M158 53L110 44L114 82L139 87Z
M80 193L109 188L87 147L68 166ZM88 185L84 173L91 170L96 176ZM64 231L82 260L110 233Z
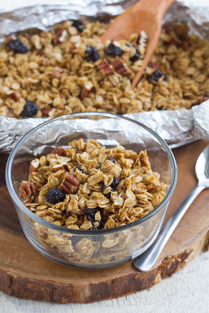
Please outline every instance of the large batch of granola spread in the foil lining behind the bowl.
M189 109L208 99L209 42L188 35L185 24L164 25L134 90L131 81L143 62L146 34L102 44L107 26L67 21L49 32L8 36L0 48L0 115L126 114Z

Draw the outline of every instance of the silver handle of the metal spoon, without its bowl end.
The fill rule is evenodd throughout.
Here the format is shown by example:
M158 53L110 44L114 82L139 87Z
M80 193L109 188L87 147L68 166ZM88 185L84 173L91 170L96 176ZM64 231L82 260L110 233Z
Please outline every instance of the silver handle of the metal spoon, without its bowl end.
M197 185L192 190L189 196L184 200L180 207L165 223L154 243L143 254L139 255L134 260L133 264L136 268L140 269L143 272L147 272L149 271L149 269L152 268L157 258L159 257L160 252L165 247L166 242L170 238L181 218L183 217L184 213L203 189L205 189L205 186Z

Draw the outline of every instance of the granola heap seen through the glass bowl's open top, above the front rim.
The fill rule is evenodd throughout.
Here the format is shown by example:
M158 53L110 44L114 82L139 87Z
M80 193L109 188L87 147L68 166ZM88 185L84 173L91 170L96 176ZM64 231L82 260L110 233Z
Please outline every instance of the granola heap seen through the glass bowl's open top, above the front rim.
M19 198L38 217L71 229L122 226L150 213L165 197L166 184L153 172L147 152L106 148L73 140L35 158Z

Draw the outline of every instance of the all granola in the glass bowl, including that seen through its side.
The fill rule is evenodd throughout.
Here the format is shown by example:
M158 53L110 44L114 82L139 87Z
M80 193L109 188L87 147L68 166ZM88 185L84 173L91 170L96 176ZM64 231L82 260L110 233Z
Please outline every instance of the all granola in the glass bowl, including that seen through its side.
M108 229L136 221L151 212L167 190L152 171L146 151L107 149L95 140L73 140L69 148L56 147L32 160L29 173L19 189L24 205L43 220L70 229ZM40 244L52 254L84 264L129 256L154 229L137 227L119 232L118 237L101 236L102 241L96 242L39 223L34 226Z

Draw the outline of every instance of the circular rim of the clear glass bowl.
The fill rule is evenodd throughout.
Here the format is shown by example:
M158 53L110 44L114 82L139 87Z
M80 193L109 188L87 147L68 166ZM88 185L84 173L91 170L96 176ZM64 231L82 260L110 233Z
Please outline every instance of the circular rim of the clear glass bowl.
M50 222L44 221L42 218L36 216L27 207L25 207L25 205L18 198L16 192L14 191L13 184L12 184L12 177L11 177L11 167L12 167L12 163L13 163L13 159L15 157L15 154L18 151L18 148L24 143L24 141L30 135L32 135L35 131L37 131L39 128L41 128L42 126L45 126L47 124L50 124L52 122L59 121L62 119L85 116L85 115L91 115L91 116L96 115L96 116L105 116L105 117L115 118L115 119L119 119L119 120L121 119L121 120L126 120L126 121L129 121L131 123L134 123L138 126L141 126L145 130L147 130L149 133L151 133L158 140L158 142L163 146L163 148L165 149L165 151L167 152L167 154L169 156L169 159L171 162L171 183L170 183L169 190L168 190L167 194L165 195L165 198L151 212L149 212L147 215L139 218L138 220L136 220L134 222L131 222L131 223L128 223L128 224L125 224L122 226L118 226L118 227L101 229L101 230L80 230L80 229L64 228L62 226L58 226L58 225L52 224ZM47 228L50 228L52 230L56 230L56 231L59 231L62 233L71 233L71 234L75 234L75 235L96 235L96 234L100 235L100 234L116 233L118 231L131 229L133 227L136 227L136 226L144 223L145 221L147 221L148 219L150 219L154 215L156 215L159 211L161 211L162 208L164 208L169 203L170 198L172 197L173 192L174 192L175 187L176 187L177 175L178 175L178 170L177 170L177 165L176 165L174 155L173 155L172 151L170 150L169 146L167 145L167 143L155 131L150 129L148 126L146 126L146 125L144 125L138 121L135 121L133 119L130 119L124 115L107 113L107 112L78 112L78 113L61 115L61 116L55 117L53 119L47 120L47 121L41 123L40 125L32 128L14 146L13 150L11 151L11 153L8 157L8 161L7 161L7 165L6 165L6 171L5 171L6 184L7 184L9 194L10 194L13 202L17 205L17 207L23 213L26 214L26 216L31 218L34 222L37 222L37 223L39 223L39 224L41 224Z

